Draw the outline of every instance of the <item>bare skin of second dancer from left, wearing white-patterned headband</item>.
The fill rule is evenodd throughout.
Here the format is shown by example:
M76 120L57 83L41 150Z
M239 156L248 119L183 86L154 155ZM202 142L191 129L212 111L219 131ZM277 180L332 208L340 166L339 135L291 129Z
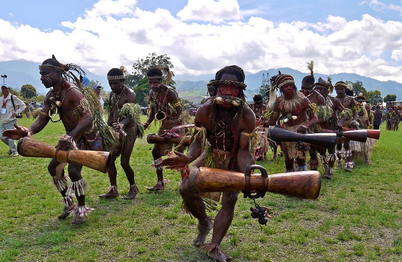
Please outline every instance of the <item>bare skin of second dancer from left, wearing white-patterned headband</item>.
M124 79L120 80L109 80L109 86L112 89L112 92L110 93L109 99L111 101L111 106L113 112L109 114L109 118L107 119L107 124L113 129L115 129L116 132L120 132L121 125L125 128L135 128L135 135L133 139L127 139L123 143L123 135L121 134L121 137L119 139L119 143L123 143L123 149L121 151L121 158L120 158L120 164L121 167L123 168L127 180L130 185L135 185L135 180L134 180L134 171L130 166L130 157L131 153L133 152L134 148L134 143L136 140L136 134L137 134L137 125L135 125L135 119L133 119L132 116L127 116L124 119L120 119L120 114L119 110L123 107L124 104L126 103L137 103L137 97L135 96L135 93L132 89L126 88L123 91L124 87ZM122 92L123 91L123 92ZM115 98L117 99L120 95L119 98L119 104L116 106L117 101L115 101L115 98L113 97L113 94L115 94ZM120 125L119 125L120 123ZM116 169L116 158L117 156L112 156L111 158L111 165L108 170L108 175L109 175L109 180L110 180L110 185L111 186L117 186L117 169ZM136 187L135 187L136 188ZM131 186L129 187L129 192L123 196L123 199L128 200L128 199L133 199L137 195L138 190L134 190ZM114 188L111 188L108 192L105 194L101 194L100 197L116 197L119 195L119 192L115 190Z

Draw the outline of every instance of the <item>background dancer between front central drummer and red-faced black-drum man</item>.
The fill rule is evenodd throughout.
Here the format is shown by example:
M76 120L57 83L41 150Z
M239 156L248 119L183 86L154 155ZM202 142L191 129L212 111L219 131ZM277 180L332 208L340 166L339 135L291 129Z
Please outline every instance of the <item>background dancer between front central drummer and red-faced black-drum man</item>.
M254 103L250 104L250 108L255 114L257 125L258 123L261 123L261 127L264 129L264 113L267 110L267 105L264 104L264 98L260 94L256 94L252 99ZM263 135L266 136L266 133L263 133ZM253 142L256 143L255 139L253 139ZM267 160L267 151L268 145L266 143L266 139L261 139L258 145L256 145L254 155L255 161Z

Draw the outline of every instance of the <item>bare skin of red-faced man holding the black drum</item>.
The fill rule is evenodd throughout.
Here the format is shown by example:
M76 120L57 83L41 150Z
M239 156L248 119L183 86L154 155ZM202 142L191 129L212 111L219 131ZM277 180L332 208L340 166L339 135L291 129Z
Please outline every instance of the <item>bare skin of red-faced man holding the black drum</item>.
M285 96L285 99L293 98L294 92L296 92L294 90L293 84L291 84L291 83L285 84L282 87L282 90L283 90L282 92L283 92L283 95ZM313 111L310 110L310 108L311 108L310 100L308 100L306 97L304 97L303 103L301 105L297 106L297 108L294 111L286 112L284 108L280 108L279 99L277 98L273 105L274 114L272 115L271 119L269 119L268 121L265 122L265 127L269 127L269 126L275 125L277 123L277 120L279 117L279 111L280 111L282 113L282 115L287 115L287 113L291 113L292 116L297 116L297 119L295 119L295 120L289 119L289 121L287 121L287 123L284 123L286 126L298 125L299 123L302 123L303 121L308 120L306 125L300 125L296 130L296 132L305 133L309 127L311 127L312 125L315 125L318 121L317 116L314 115ZM286 169L288 169L288 170L293 169L293 159L289 158L286 148L284 148L283 152L285 154ZM298 166L306 166L306 160L297 158L296 161L297 161Z

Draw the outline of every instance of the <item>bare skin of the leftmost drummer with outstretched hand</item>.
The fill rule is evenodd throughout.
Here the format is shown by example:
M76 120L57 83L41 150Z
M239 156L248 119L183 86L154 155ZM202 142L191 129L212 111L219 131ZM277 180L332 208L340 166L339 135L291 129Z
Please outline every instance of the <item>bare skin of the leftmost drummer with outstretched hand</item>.
M60 118L62 119L62 123L64 125L64 128L66 129L66 132L69 133L69 135L73 137L75 141L78 141L81 138L82 134L92 127L93 122L93 117L90 110L84 112L82 107L78 108L78 113L81 116L81 120L78 121L73 116L73 111L78 107L78 105L80 105L80 101L82 100L82 98L84 98L82 92L76 88L68 90L68 88L74 87L75 85L67 81L65 81L63 85L63 76L61 70L59 69L41 68L39 73L41 74L41 81L43 85L46 88L53 87L53 94L58 94L59 90L61 89L59 100L62 101L64 99L64 101L62 105L58 108ZM47 114L49 112L50 97L50 92L48 92L45 96L45 102L42 109L43 113ZM45 128L47 123L49 123L49 120L49 116L41 114L39 115L39 118L31 125L31 127L29 127L29 130L31 130L31 132L34 134L39 133L43 130L43 128ZM23 131L21 127L15 125L15 128L16 129L4 131L3 135L16 140L21 139L22 137L25 137L27 135L27 133ZM70 146L71 141L60 139L56 147L68 149L70 148ZM56 166L58 164L59 162L57 162L53 158L47 166L49 174L53 177L56 176ZM68 165L68 176L70 176L70 179L73 182L82 179L81 169L82 166L75 163L70 163ZM62 196L66 196L66 191L67 189L61 192ZM77 201L79 206L84 206L85 195L77 196ZM68 211L68 209L69 208L66 207L59 218L67 217L68 214L65 213L66 211ZM86 217L75 216L74 219L72 219L72 223L76 224L84 223L85 221Z

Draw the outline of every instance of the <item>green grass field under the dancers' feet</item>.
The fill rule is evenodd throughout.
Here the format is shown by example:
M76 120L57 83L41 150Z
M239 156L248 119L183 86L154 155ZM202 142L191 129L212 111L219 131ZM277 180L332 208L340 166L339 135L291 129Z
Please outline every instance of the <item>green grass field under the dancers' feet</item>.
M55 145L61 134L60 122L49 123L34 138ZM402 261L401 145L402 131L383 126L373 164L357 160L352 173L323 178L316 201L266 194L257 203L278 215L263 230L250 217L252 200L239 195L224 250L234 261ZM49 160L10 158L0 143L0 262L212 261L192 245L197 221L180 211L180 175L165 172L171 182L163 192L146 190L156 182L151 149L146 139L135 143L131 166L139 194L131 201L99 199L107 174L83 168L91 186L87 204L95 210L84 225L72 225L70 217L57 219L63 206L47 173ZM283 158L260 164L271 174L284 171ZM121 167L118 173L124 195L128 182Z

